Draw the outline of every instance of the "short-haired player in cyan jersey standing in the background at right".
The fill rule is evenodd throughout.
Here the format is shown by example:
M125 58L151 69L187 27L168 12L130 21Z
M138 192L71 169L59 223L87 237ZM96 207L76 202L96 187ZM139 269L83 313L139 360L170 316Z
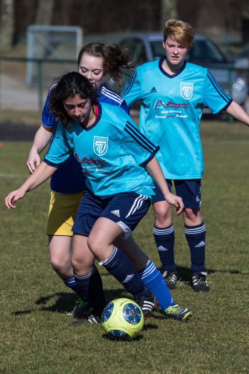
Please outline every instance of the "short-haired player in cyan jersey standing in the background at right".
M191 253L193 289L208 291L205 276L205 224L200 214L203 155L199 122L203 105L214 114L226 111L249 125L249 117L201 66L185 61L193 45L194 30L186 22L171 19L165 23L165 57L139 66L121 96L131 107L140 101L139 128L160 146L156 157L168 187L174 180L176 194L183 198L185 234ZM169 289L177 282L174 262L172 208L156 187L152 198L155 214L154 237Z

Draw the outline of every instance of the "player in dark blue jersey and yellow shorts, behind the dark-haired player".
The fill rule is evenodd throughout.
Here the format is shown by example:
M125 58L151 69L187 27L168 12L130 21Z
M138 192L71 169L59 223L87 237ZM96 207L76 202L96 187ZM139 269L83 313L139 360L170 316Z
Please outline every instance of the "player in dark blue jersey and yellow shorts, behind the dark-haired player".
M108 74L115 82L120 84L123 69L132 68L130 59L118 46L106 47L104 44L97 42L83 46L78 55L79 72L86 76L91 84L97 88L99 101L121 107L127 113L129 113L129 109L124 99L112 90L102 86L101 82L103 76ZM49 111L49 95L44 105L41 122L27 161L30 173L35 170L35 163L37 166L40 164L39 153L50 141L56 125L56 117ZM71 266L71 229L82 197L82 191L85 189L85 177L73 155L52 175L50 187L51 199L47 223L50 262L65 285L80 296L74 310L68 313L68 316L76 317L81 315L82 311L89 309L89 306L85 305L84 297L75 283ZM132 238L130 241L132 242ZM150 311L151 309L147 310L148 315Z

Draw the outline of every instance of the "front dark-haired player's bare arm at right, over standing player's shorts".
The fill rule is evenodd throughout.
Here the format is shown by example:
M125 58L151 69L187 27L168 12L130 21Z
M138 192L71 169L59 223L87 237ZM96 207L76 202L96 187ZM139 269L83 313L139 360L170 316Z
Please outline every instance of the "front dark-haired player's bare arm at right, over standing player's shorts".
M156 184L158 184L159 188L161 188L161 191L164 194L166 202L168 202L171 205L174 205L175 208L177 208L176 214L179 215L184 209L183 199L179 196L172 194L169 191L161 166L159 165L159 162L156 157L153 157L153 159L147 163L146 169L150 176L153 178L153 180L156 182Z

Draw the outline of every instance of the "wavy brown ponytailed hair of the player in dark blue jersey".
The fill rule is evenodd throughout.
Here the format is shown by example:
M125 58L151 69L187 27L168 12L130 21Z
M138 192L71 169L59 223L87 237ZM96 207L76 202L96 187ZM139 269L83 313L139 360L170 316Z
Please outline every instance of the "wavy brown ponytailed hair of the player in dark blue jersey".
M133 55L127 48L121 48L117 44L106 47L105 44L99 42L87 43L81 48L78 55L78 67L80 67L80 61L84 54L102 58L104 74L107 74L120 86L122 77L130 78L131 75L125 70L134 71L135 69Z

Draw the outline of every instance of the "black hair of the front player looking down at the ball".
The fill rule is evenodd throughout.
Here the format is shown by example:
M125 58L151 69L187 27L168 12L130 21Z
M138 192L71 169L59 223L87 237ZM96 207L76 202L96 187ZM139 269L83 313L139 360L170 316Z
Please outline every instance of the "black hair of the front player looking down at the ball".
M63 100L79 95L82 99L89 98L92 104L97 104L97 90L86 77L76 71L57 79L59 82L53 86L49 94L49 110L64 127L68 127L70 117L65 111Z

